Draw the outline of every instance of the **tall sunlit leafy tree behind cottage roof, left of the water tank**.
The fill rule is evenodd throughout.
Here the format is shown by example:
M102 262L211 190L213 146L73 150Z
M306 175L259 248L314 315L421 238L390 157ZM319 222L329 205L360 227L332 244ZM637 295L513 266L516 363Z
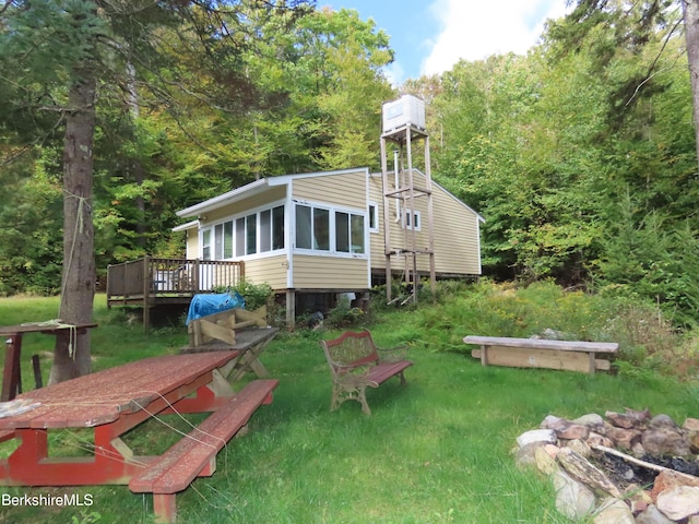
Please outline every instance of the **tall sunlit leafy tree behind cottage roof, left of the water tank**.
M249 71L266 90L284 86L286 105L252 114L225 148L249 151L242 160L272 174L378 167L381 105L393 97L381 72L393 60L388 35L356 11L325 8L292 32L266 31L276 36L249 58Z

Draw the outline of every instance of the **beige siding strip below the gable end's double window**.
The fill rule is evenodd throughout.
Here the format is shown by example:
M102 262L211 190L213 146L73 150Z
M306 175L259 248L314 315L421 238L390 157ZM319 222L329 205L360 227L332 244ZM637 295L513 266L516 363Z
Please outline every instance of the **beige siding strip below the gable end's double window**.
M368 260L335 257L294 255L296 289L367 289Z

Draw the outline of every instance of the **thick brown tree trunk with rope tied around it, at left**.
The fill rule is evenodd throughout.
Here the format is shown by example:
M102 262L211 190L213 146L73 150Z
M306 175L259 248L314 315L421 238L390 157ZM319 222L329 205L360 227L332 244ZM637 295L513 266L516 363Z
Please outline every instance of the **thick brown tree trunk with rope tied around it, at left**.
M96 81L90 68L75 71L66 114L63 143L63 277L59 317L63 322L92 321L95 296L92 213L93 136ZM59 338L49 383L91 370L90 334Z

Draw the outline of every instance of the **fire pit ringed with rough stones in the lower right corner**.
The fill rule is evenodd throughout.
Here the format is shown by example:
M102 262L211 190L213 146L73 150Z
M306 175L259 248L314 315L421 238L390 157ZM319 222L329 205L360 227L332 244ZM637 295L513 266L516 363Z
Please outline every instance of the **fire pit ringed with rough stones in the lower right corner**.
M699 524L699 419L648 409L547 416L517 439L517 463L549 476L556 508L594 524Z

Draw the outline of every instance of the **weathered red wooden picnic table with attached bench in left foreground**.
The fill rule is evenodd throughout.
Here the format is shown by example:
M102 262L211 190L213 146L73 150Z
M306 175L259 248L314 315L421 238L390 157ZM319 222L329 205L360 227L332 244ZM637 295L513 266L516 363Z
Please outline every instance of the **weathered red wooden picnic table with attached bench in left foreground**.
M218 369L238 357L217 352L146 358L19 395L12 402L31 409L0 418L4 440L21 441L0 460L0 485L128 484L134 492L152 492L156 516L174 522L175 493L194 477L212 475L216 453L261 404L272 402L276 380L256 380L233 393ZM201 412L214 413L163 455L133 456L120 439L156 415ZM93 428L94 455L49 457L48 433L60 428Z

